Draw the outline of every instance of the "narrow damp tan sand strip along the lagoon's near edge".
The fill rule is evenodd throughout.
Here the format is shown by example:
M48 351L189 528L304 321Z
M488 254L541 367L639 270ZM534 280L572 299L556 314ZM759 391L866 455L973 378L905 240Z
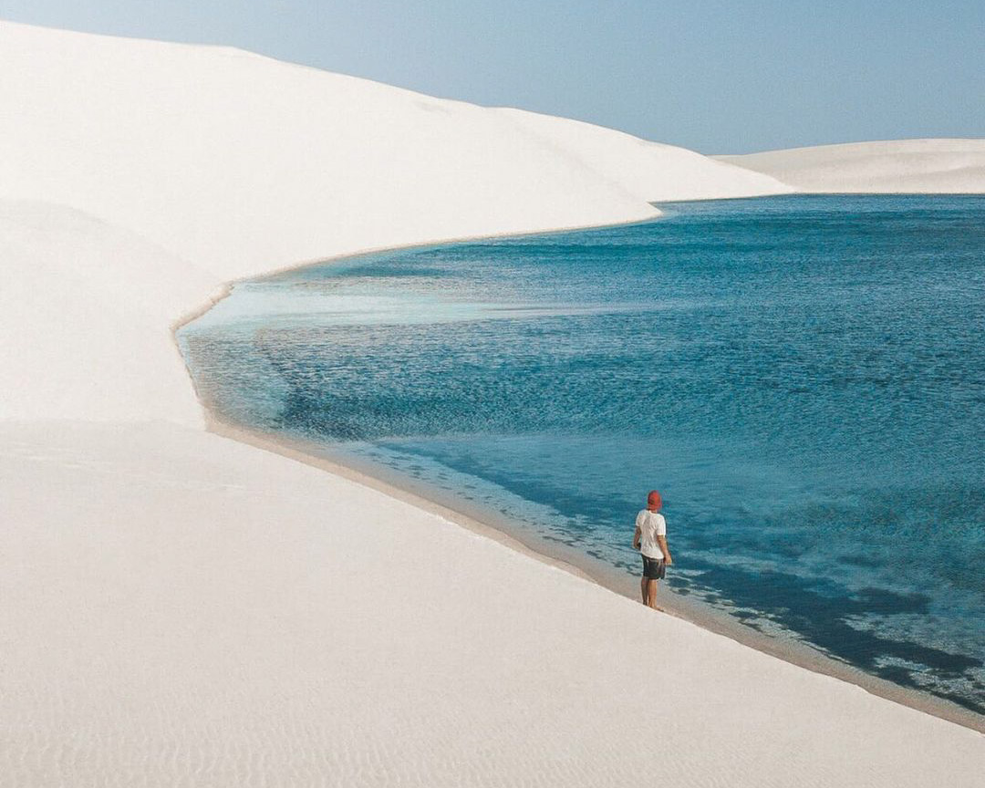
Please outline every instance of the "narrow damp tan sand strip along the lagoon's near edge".
M519 532L515 523L493 512L468 509L462 499L442 498L437 491L414 485L400 474L366 462L357 465L349 457L326 452L323 446L296 438L255 429L230 425L206 409L209 431L232 440L271 451L297 462L313 466L342 477L402 502L409 503L429 514L455 523L555 568L605 588L622 597L638 600L638 577L630 576L611 564L593 559L573 548L539 538L536 534ZM439 499L441 498L441 499ZM683 619L716 634L721 634L764 654L776 657L801 668L855 685L879 697L922 711L978 733L985 733L985 718L944 698L907 689L865 673L848 663L836 660L810 644L791 638L773 637L740 624L727 613L715 610L699 601L690 601L674 593L665 583L661 588L661 607L665 613Z

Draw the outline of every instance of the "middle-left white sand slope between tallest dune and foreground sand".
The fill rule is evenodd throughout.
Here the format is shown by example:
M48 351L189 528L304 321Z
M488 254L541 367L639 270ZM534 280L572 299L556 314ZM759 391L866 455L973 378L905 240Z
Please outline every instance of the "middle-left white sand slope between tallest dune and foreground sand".
M170 324L213 275L81 211L0 200L0 419L202 424Z

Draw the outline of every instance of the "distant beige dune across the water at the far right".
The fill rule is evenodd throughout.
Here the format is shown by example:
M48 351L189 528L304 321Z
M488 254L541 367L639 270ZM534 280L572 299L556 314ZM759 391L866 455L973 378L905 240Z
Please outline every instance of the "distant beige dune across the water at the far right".
M985 139L889 140L713 157L814 193L985 193Z

